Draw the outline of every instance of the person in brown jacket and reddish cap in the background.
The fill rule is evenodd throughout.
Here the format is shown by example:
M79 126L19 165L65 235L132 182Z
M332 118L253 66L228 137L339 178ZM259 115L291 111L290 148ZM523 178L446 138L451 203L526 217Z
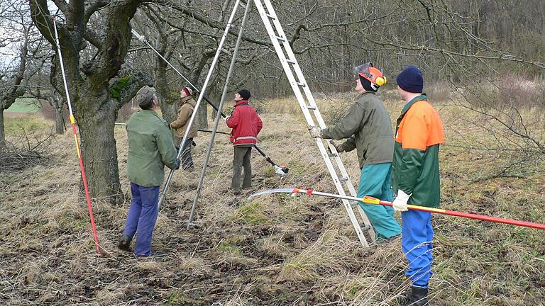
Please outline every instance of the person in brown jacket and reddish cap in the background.
M195 109L195 101L193 99L193 91L189 87L184 87L180 91L180 101L178 105L178 118L172 123L170 123L170 128L176 130L176 133L179 137L184 137L185 130L187 130L187 125L189 124L189 118L193 114ZM191 157L191 145L193 143L193 138L197 137L197 125L193 124L191 129L189 129L189 134L187 135L187 140L183 145L182 152L182 169L187 171L194 171L193 159Z

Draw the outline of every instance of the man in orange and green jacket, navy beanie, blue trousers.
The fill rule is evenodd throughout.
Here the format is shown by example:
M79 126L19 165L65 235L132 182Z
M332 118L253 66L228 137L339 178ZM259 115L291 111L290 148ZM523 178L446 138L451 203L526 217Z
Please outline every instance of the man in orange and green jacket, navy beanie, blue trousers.
M396 125L392 174L397 196L392 204L402 212L401 243L409 261L405 274L412 280L405 305L412 306L428 305L434 230L431 213L407 210L407 203L439 206L439 145L444 142L443 123L422 94L423 86L422 72L415 66L397 76L397 92L405 105Z

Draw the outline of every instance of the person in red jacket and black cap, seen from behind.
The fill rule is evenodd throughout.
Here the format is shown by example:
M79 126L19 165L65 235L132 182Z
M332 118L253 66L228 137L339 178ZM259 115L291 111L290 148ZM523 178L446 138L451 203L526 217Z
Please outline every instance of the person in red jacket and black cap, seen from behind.
M255 109L248 104L250 91L242 89L235 94L235 109L225 123L231 128L231 142L234 147L233 179L231 191L241 193L241 173L244 168L242 188L252 187L252 147L258 142L258 134L263 128L263 121Z

